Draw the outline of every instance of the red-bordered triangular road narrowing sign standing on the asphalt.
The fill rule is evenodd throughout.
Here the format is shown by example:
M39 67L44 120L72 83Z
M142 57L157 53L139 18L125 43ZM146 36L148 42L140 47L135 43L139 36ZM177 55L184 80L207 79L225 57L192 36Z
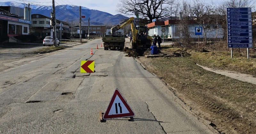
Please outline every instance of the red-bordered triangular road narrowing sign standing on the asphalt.
M108 107L103 115L103 119L114 119L123 117L133 117L135 116L131 107L125 101L123 95L116 88L114 94L112 95Z

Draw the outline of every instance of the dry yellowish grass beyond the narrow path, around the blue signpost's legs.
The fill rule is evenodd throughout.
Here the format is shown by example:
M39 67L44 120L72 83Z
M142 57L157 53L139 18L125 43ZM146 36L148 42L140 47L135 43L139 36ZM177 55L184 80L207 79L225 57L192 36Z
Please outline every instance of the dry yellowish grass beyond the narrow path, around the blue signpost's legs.
M172 53L179 49L183 49L172 46L163 46L163 48L162 52L164 53ZM231 59L230 51L202 53L188 50L188 53L191 54L189 58L197 62L199 65L213 69L236 71L256 76L256 58L254 58L255 56L253 55L253 52L251 52L249 60L246 55L239 53L233 53L233 58Z

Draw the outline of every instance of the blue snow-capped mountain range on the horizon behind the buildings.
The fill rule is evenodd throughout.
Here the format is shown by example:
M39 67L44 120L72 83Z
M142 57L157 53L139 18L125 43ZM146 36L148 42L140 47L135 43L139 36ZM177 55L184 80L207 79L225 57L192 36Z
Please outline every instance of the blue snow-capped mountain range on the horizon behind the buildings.
M17 2L0 2L0 6L14 6L24 8L24 3ZM42 14L44 16L51 17L50 13L52 12L51 3L45 3L44 5L30 5L32 14ZM55 5L56 19L61 21L73 20L73 22L79 21L79 6L76 5ZM127 19L121 14L112 15L107 12L92 10L86 7L81 7L81 15L85 16L82 18L83 25L88 24L88 17L90 17L90 25L100 25L101 24L120 24L120 20Z

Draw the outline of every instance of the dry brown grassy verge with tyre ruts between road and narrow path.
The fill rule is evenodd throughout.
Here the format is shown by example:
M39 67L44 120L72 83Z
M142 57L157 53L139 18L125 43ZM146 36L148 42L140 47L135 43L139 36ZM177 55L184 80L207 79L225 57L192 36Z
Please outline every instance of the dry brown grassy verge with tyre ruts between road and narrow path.
M215 74L198 67L188 57L145 58L139 60L177 93L192 109L211 121L223 133L256 131L256 86ZM207 113L207 114L204 114Z

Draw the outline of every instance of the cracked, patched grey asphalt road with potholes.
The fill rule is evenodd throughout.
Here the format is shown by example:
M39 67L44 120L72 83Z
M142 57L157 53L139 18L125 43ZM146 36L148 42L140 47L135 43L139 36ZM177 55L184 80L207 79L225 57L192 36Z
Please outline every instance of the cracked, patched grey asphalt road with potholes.
M1 133L211 134L157 76L120 51L104 51L96 39L0 72ZM93 55L90 55L93 48ZM81 60L95 73L81 74ZM118 88L134 121L99 122Z

